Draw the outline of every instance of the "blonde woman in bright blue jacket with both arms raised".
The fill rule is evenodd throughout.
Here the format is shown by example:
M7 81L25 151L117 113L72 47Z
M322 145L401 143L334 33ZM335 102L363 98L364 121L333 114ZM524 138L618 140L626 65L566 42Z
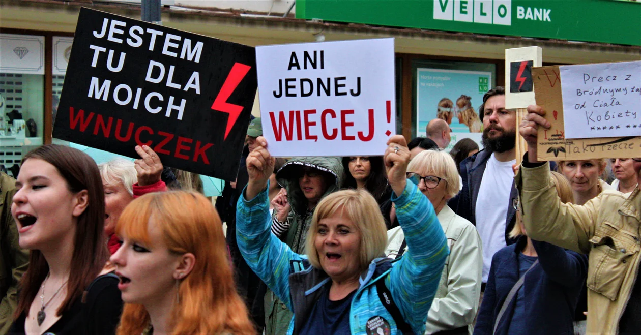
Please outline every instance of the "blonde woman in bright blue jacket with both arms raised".
M422 334L448 250L433 206L408 183L403 136L388 140L387 177L408 244L393 265L384 257L385 222L367 191L344 190L320 201L306 255L271 234L267 142L247 158L249 183L238 200L237 241L247 264L294 311L287 334ZM380 257L380 258L379 258Z

